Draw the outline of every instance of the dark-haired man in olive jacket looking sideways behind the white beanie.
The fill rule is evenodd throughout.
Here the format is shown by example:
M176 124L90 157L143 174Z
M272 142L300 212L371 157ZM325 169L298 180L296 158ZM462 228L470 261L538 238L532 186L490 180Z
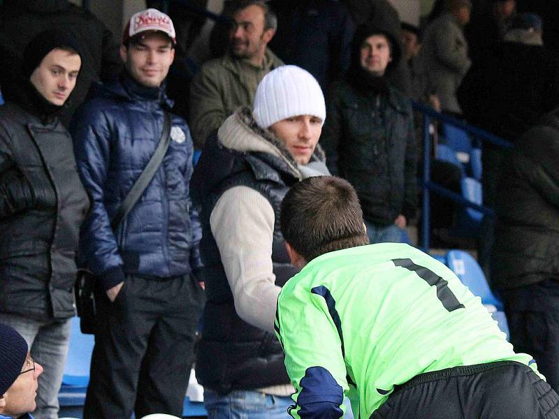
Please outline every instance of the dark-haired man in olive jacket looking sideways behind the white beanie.
M190 86L190 127L201 149L237 108L252 106L256 87L283 65L267 47L277 19L266 3L243 0L233 10L229 52L205 63Z

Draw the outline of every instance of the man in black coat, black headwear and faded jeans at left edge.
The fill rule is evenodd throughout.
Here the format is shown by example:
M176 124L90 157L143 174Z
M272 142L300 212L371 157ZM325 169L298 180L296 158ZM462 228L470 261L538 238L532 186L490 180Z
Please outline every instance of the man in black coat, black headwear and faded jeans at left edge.
M75 86L80 48L44 31L24 50L19 92L0 107L0 322L49 368L38 379L36 418L57 418L75 253L89 206L72 140L57 115Z

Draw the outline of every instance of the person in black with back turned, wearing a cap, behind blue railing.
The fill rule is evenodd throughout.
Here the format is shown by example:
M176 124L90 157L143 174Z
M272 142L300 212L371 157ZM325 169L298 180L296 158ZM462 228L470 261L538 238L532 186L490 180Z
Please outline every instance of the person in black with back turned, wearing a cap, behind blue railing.
M559 105L559 55L544 47L537 15L516 15L504 42L474 62L458 89L458 101L470 124L511 142ZM481 159L483 203L493 208L504 149L484 142ZM495 241L491 219L484 219L482 232L478 260L488 269Z

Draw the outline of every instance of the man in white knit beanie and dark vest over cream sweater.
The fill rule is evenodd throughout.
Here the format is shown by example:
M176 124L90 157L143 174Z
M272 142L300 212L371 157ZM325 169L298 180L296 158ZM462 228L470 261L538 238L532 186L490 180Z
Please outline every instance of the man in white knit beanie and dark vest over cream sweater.
M192 178L202 206L200 250L207 302L196 373L208 418L288 418L293 388L274 336L277 295L295 274L279 230L293 184L326 175L317 147L326 117L310 73L282 66L210 137Z

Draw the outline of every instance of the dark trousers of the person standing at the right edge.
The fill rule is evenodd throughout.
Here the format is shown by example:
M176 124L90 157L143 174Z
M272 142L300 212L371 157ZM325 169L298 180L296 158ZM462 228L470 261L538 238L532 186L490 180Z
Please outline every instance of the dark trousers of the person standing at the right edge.
M529 353L551 387L559 391L559 280L500 290L511 344Z

